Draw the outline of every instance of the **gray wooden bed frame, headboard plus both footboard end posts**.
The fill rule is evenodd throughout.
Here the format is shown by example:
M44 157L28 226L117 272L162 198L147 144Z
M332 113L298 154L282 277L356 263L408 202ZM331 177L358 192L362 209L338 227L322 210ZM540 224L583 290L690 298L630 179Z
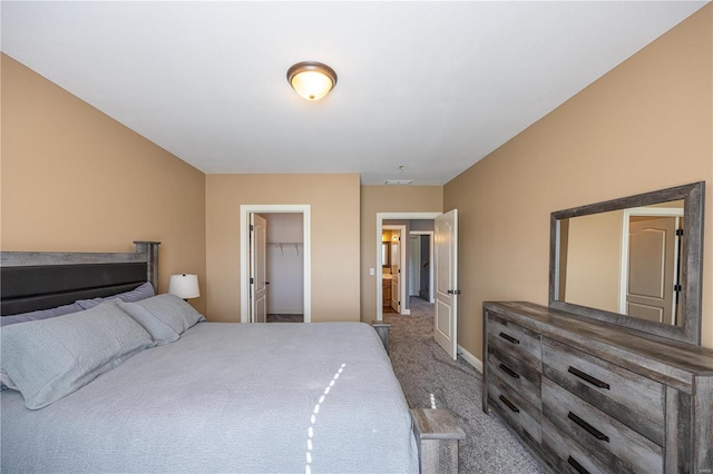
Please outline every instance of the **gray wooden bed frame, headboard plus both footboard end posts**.
M0 253L1 316L116 295L145 282L158 284L158 241L135 241L135 253ZM388 324L374 327L389 352ZM466 437L447 409L411 409L422 474L458 472L458 441Z

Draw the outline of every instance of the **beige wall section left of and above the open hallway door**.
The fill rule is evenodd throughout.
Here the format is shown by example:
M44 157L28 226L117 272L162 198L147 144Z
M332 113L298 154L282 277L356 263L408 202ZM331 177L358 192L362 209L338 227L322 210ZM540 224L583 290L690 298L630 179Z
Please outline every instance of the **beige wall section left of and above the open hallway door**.
M361 188L361 320L377 317L377 213L442 213L441 186L362 186ZM369 269L374 268L374 275Z

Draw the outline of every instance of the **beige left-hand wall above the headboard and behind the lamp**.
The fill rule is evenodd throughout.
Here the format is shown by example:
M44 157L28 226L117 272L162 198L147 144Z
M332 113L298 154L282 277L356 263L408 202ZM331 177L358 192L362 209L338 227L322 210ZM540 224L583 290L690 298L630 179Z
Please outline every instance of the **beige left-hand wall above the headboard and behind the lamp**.
M133 251L159 240L205 288L203 172L2 55L2 250ZM203 292L205 293L205 292ZM192 300L204 310L203 298Z

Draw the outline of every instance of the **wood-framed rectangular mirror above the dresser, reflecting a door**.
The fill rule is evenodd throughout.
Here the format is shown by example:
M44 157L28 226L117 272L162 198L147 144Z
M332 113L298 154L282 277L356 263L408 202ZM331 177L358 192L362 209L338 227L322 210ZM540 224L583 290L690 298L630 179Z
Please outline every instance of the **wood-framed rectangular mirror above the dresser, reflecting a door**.
M553 213L549 306L700 345L704 188Z

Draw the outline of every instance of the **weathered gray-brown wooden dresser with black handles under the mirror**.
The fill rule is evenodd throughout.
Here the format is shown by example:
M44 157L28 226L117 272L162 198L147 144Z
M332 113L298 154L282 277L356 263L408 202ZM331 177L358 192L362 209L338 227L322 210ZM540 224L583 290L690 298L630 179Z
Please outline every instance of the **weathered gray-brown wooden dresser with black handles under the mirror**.
M531 303L484 304L482 408L549 470L713 473L713 350Z

